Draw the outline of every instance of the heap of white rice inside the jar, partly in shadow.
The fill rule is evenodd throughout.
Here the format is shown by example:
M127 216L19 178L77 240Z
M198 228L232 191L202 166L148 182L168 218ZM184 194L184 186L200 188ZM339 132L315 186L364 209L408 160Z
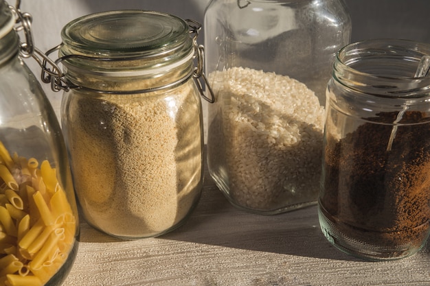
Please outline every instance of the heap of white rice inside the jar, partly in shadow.
M316 202L324 107L288 76L235 67L210 75L209 167L236 205L260 211Z

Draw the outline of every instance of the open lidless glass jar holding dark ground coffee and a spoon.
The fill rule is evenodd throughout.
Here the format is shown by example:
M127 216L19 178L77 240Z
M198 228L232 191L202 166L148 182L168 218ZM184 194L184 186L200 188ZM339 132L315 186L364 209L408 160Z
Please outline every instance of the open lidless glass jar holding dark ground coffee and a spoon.
M319 221L344 252L400 259L429 236L429 56L429 44L407 40L367 40L337 55Z

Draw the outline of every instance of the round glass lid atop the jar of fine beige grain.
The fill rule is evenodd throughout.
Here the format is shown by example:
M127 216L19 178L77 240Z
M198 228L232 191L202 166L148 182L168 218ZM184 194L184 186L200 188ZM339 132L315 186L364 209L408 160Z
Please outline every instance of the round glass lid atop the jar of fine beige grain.
M185 21L170 14L143 10L82 16L68 23L61 37L65 44L63 55L127 58L192 47Z

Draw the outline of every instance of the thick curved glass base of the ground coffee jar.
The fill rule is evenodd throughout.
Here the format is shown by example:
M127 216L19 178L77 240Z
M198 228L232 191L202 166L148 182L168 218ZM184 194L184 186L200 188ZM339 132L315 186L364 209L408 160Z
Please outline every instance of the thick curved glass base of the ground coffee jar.
M403 259L416 254L430 234L430 222L411 230L376 232L340 222L319 204L321 231L330 243L354 257L370 261Z

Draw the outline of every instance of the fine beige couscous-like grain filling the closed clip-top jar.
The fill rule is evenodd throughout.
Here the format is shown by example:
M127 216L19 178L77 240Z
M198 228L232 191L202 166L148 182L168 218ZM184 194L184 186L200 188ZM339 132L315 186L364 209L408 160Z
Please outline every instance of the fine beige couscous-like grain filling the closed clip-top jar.
M144 95L69 95L67 141L88 222L117 237L159 235L201 192L201 108L188 81Z

